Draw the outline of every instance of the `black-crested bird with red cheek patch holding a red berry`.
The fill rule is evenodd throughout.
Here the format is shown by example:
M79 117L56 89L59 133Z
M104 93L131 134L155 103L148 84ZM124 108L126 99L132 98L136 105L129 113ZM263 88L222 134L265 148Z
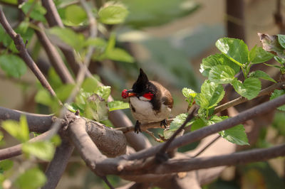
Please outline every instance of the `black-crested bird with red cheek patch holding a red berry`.
M133 87L123 90L122 97L129 98L130 110L136 119L135 133L141 132L140 124L157 121L166 128L166 120L173 107L172 95L159 82L148 80L141 68Z

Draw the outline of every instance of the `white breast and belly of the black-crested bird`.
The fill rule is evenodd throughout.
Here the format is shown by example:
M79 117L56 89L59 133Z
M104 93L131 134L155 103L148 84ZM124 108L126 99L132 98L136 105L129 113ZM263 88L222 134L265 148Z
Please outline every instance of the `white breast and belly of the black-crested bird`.
M149 101L140 100L137 97L130 97L130 104L135 108L135 112L132 111L133 117L141 124L162 121L167 119L171 112L171 109L164 104L162 104L160 112L155 112Z

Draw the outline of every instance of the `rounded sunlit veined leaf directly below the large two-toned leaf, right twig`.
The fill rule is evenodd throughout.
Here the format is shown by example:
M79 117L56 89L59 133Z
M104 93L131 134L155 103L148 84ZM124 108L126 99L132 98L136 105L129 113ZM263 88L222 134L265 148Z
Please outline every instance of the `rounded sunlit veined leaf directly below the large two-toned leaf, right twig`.
M228 65L216 65L209 71L211 82L226 84L234 80L235 72Z

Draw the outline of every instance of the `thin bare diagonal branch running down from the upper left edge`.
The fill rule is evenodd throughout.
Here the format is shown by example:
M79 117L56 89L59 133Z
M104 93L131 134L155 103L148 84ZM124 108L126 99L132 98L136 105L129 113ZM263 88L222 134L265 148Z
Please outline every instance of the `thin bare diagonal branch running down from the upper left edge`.
M36 63L33 62L33 59L28 54L28 51L26 50L26 45L23 39L21 38L19 34L17 34L13 30L13 28L11 28L1 7L0 7L0 23L4 27L5 31L9 34L9 36L11 36L11 38L13 39L17 50L19 50L19 54L21 55L21 58L24 60L26 65L28 65L28 68L30 68L33 74L36 75L38 80L41 82L41 85L43 85L43 87L45 87L48 90L48 92L51 93L53 97L56 97L56 93L51 88L51 85L49 85L48 81L46 80L46 77L43 76L41 70L38 69L38 66L36 65Z

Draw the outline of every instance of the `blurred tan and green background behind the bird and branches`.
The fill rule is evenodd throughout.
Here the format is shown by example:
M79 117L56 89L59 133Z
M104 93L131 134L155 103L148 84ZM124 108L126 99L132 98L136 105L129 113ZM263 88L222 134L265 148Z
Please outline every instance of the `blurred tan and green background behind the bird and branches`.
M9 18L16 18L14 6L4 4ZM98 1L103 3L104 1ZM151 80L167 87L175 99L172 116L187 111L182 88L199 92L204 77L199 72L202 58L219 53L214 43L224 36L241 38L249 49L260 45L257 33L283 33L282 13L285 1L278 0L123 0L128 17L119 26L110 26L107 33L115 33L116 45L135 58L135 63L124 60L94 61L91 72L112 87L115 99L130 88L142 68ZM63 9L71 1L56 1ZM63 6L63 4L66 4ZM64 16L63 16L64 17ZM36 43L35 36L31 41ZM31 43L32 44L32 43ZM34 45L29 45L33 55ZM46 60L39 52L37 63ZM269 73L271 71L269 70ZM272 72L274 74L274 72ZM271 75L274 76L274 75ZM28 70L21 80L6 77L0 70L0 106L27 112L48 112L34 100L38 90L35 77ZM264 87L264 86L263 86ZM252 104L243 104L240 110ZM130 115L130 111L124 110ZM51 112L50 112L51 113ZM130 117L131 118L131 117ZM285 114L272 112L262 118L261 125L252 131L251 148L272 146L284 142ZM160 131L158 131L160 132ZM13 144L14 141L11 141ZM8 145L7 141L7 145ZM9 144L9 145L11 145ZM153 142L155 144L155 142ZM190 146L190 148L192 148ZM189 150L189 148L187 149ZM43 165L44 166L44 165ZM222 175L203 188L285 188L284 158L226 168ZM126 183L110 176L113 185ZM66 174L58 188L104 188L103 181L88 171L78 154L71 158Z

